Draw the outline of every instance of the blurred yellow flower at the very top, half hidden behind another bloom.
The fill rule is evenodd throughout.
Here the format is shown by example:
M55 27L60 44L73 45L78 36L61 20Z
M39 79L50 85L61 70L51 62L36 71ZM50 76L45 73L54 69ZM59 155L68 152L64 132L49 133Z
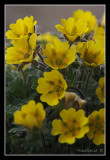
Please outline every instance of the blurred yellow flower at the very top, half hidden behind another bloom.
M81 9L73 12L73 18L75 20L82 19L84 22L87 23L87 27L89 28L88 31L85 34L88 34L89 32L93 31L96 26L96 17L92 14L90 11L83 11Z

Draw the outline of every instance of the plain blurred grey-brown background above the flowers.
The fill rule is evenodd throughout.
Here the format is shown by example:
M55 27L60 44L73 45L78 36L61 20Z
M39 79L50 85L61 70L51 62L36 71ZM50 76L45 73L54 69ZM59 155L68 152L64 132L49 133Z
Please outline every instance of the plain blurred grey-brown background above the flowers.
M5 31L9 30L9 24L16 23L17 19L32 15L34 20L37 20L38 32L52 31L60 34L55 25L61 24L62 18L71 17L77 9L91 11L100 20L105 5L5 5Z

